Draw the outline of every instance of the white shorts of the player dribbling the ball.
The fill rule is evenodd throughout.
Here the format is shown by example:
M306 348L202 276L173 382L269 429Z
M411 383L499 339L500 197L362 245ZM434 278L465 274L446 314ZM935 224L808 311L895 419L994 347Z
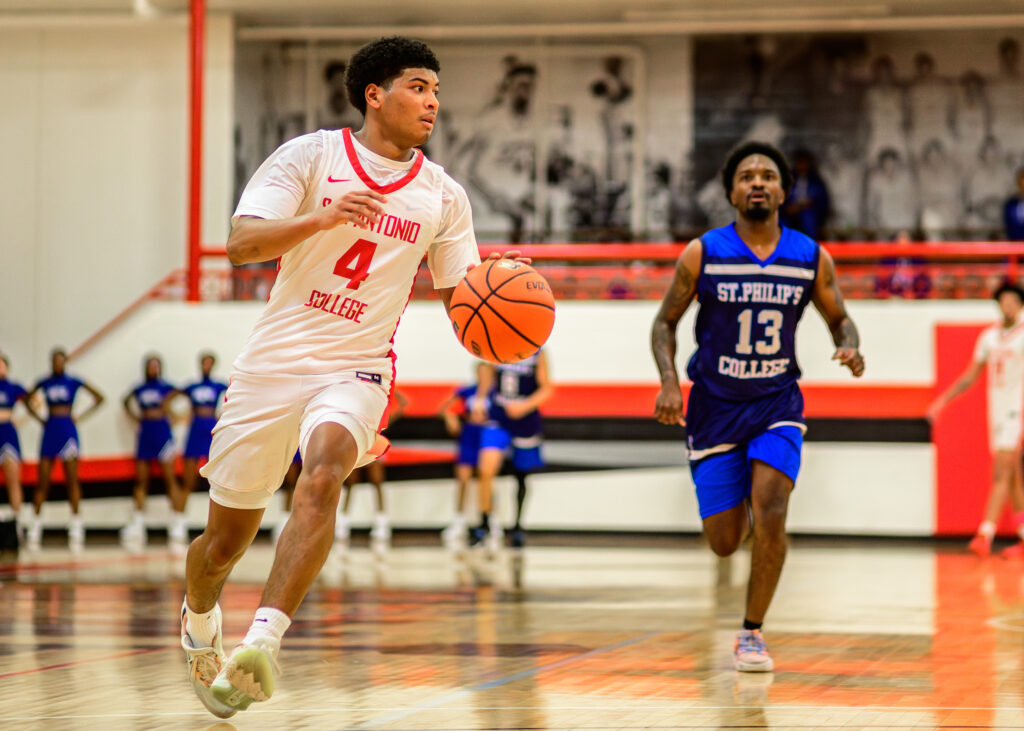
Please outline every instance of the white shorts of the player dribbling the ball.
M213 429L210 461L201 474L210 499L225 508L265 508L281 486L298 448L305 457L321 424L344 427L369 464L377 440L388 384L361 380L354 372L330 376L257 376L236 372Z

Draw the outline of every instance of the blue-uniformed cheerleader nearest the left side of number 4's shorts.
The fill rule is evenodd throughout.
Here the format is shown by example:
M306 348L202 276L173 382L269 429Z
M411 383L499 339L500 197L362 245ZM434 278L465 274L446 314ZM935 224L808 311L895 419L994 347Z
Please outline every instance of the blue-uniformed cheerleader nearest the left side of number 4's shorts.
M217 423L217 406L223 398L224 391L227 390L226 383L221 383L213 378L213 367L216 363L217 358L213 353L200 353L200 380L188 384L180 391L173 391L167 396L169 403L176 396L183 394L188 398L191 406L191 422L188 425L188 436L185 439L181 489L177 492L176 501L174 496L171 497L171 508L174 514L171 518L171 524L167 528L171 550L175 552L188 543L185 505L188 502L188 496L193 493L199 483L201 463L205 463L210 457L210 441L213 438L213 427Z

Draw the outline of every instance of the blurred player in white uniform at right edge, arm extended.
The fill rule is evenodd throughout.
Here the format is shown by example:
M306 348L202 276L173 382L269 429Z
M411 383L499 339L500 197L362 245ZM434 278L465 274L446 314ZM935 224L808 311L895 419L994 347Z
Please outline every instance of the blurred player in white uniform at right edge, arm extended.
M979 556L992 550L995 524L1009 497L1021 541L1002 552L1024 557L1024 488L1021 438L1024 436L1024 290L1005 284L995 291L1002 318L979 336L974 358L964 374L928 410L934 422L949 401L969 389L988 370L988 443L992 449L992 487L985 518L968 548Z

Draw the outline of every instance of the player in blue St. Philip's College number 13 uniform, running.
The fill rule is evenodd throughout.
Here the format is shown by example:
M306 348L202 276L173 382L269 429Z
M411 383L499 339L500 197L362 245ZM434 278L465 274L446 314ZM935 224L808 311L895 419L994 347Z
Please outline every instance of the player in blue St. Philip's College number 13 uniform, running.
M831 257L779 225L792 183L775 147L748 142L722 169L734 223L687 245L651 332L662 376L654 416L685 425L705 534L729 556L753 529L751 577L734 657L739 671L773 662L761 625L785 559L785 515L800 470L804 400L797 380L797 322L813 302L833 336L833 359L859 377L864 359L843 304ZM696 352L686 419L676 372L676 328L696 299Z

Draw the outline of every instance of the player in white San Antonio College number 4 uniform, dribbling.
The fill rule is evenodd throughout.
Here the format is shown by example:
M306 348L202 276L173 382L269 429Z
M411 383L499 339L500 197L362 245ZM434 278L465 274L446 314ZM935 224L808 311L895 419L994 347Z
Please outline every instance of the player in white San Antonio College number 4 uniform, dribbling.
M420 261L445 307L479 263L465 191L416 148L437 116L439 68L418 41L365 46L346 79L362 128L286 142L236 210L231 262L280 258L281 270L234 361L203 468L210 513L187 557L181 644L197 695L221 718L273 692L282 636L331 549L342 480L386 448L392 339ZM252 627L225 660L217 599L296 447L292 515Z

